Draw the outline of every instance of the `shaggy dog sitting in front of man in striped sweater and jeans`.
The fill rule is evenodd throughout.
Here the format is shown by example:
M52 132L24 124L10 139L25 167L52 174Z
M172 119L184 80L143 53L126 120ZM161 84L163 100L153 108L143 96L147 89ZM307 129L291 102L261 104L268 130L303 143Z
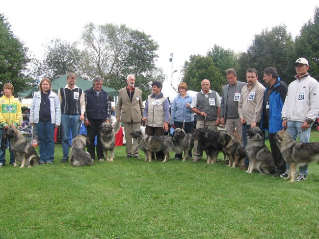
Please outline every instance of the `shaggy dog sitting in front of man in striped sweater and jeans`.
M94 164L89 152L85 151L85 146L90 143L85 135L78 135L72 140L71 152L69 156L70 165L74 167L91 166Z

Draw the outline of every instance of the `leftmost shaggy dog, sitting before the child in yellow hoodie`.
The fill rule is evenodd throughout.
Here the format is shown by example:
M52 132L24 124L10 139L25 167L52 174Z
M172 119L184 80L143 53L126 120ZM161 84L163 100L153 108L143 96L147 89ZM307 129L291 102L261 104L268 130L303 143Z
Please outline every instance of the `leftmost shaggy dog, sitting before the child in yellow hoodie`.
M20 167L39 165L38 153L30 143L27 143L19 129L9 128L4 130L3 134L10 140L11 150L14 155L14 167L17 167L18 160L21 161Z

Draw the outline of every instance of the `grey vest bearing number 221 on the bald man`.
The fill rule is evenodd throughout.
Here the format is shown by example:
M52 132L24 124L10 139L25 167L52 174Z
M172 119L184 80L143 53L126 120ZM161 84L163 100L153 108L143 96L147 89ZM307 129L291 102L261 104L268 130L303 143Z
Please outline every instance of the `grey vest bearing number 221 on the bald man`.
M207 114L206 120L212 121L217 119L217 107L216 107L216 92L212 91L212 93L208 94L206 98L202 92L197 93L197 109L199 111L205 112ZM213 98L215 101L215 105L210 105L209 99ZM197 115L197 120L204 120L204 117L201 115Z

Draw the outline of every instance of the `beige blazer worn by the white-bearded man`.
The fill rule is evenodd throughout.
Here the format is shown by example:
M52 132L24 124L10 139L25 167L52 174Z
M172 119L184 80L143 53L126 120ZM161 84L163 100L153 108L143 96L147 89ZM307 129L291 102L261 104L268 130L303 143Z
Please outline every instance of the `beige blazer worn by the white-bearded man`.
M118 91L118 102L116 105L116 117L120 116L123 123L141 122L143 116L142 91L135 87L132 102L128 96L126 87ZM121 115L122 112L122 115Z

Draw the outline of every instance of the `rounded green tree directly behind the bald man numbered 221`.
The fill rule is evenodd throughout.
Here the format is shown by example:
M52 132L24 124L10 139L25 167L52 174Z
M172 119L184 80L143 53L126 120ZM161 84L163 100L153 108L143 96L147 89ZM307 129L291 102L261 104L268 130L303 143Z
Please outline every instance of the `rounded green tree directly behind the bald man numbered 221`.
M210 56L191 55L189 61L185 62L182 72L183 81L192 91L200 91L202 89L201 81L208 79L211 82L211 89L220 94L225 83L224 77L214 66Z

